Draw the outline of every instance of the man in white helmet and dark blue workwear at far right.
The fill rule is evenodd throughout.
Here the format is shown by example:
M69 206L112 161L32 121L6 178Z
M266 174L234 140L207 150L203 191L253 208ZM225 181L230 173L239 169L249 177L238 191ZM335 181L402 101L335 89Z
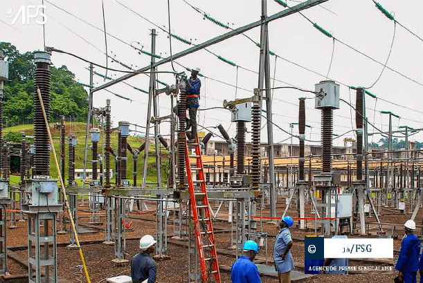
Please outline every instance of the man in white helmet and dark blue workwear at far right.
M420 242L413 234L415 222L411 219L404 224L405 237L401 242L401 250L395 269L398 271L399 280L404 283L415 283L417 269L419 268Z

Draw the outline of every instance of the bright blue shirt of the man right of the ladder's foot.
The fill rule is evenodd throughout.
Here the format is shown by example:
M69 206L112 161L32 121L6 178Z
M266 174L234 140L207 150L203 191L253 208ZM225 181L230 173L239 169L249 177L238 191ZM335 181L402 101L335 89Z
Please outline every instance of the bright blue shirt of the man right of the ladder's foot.
M261 283L257 266L245 255L241 255L231 267L232 283Z

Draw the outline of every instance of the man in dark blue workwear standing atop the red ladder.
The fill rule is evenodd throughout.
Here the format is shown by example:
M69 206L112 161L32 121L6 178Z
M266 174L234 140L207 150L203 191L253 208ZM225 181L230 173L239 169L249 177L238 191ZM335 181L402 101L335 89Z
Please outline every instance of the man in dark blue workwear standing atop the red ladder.
M186 81L186 108L190 115L187 130L191 127L191 138L188 143L193 144L197 136L197 108L199 107L201 81L197 77L200 68L191 69L191 77Z

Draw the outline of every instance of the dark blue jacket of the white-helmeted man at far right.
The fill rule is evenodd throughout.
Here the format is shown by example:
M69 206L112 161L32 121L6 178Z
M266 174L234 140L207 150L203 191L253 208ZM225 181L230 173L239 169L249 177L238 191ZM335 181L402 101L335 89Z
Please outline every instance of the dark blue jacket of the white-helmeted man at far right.
M404 272L416 272L419 268L420 242L414 234L408 234L401 242L401 250L395 269Z

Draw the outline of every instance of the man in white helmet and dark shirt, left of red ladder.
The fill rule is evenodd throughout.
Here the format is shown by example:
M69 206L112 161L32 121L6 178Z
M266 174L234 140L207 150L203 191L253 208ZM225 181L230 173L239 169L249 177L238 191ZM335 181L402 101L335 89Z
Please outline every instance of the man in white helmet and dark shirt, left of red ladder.
M131 277L133 283L156 282L157 264L150 257L156 251L156 240L152 235L145 235L140 239L140 253L132 257Z

